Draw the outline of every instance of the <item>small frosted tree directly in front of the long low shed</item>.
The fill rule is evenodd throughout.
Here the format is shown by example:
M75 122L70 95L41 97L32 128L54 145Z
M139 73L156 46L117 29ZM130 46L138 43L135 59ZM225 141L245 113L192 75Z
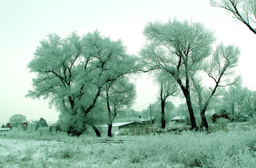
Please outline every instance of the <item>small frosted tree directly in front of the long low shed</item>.
M108 133L112 137L112 123L118 113L129 109L136 99L136 85L131 83L127 77L122 77L115 81L110 81L103 87L108 111Z

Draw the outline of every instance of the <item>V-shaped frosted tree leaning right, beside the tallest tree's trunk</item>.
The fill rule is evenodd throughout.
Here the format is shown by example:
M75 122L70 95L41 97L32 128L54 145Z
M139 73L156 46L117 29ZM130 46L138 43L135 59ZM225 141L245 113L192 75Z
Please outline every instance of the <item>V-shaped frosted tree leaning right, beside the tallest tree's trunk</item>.
M241 77L235 77L234 68L238 64L238 58L240 50L233 45L224 46L223 43L216 46L216 49L209 59L206 59L204 66L200 68L207 74L213 81L213 84L206 88L203 86L202 78L200 77L200 70L191 72L191 79L193 83L192 89L194 89L197 97L198 110L201 117L201 125L208 129L208 123L205 118L205 112L208 106L213 103L212 97L219 95L219 87L225 87L229 85L241 83ZM231 80L230 77L235 77ZM216 94L217 93L217 94Z

